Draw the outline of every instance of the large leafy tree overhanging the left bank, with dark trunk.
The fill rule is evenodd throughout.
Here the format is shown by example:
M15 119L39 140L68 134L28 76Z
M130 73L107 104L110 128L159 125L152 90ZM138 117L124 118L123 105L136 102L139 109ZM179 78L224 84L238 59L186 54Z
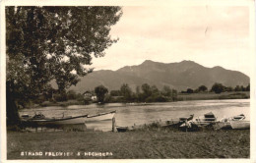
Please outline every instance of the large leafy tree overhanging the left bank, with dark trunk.
M109 31L121 15L120 7L6 7L8 120L19 119L15 101L35 98L50 81L61 93L92 73L86 66L117 41Z

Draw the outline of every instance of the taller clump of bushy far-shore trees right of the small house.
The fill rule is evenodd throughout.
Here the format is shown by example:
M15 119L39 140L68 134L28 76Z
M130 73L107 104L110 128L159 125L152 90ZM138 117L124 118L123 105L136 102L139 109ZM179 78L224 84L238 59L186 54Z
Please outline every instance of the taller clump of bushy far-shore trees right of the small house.
M99 91L100 89L100 91ZM123 83L118 90L108 90L103 85L95 89L98 102L167 102L177 100L177 90L171 89L165 85L159 89L156 85L144 83L136 87L134 92L132 88Z

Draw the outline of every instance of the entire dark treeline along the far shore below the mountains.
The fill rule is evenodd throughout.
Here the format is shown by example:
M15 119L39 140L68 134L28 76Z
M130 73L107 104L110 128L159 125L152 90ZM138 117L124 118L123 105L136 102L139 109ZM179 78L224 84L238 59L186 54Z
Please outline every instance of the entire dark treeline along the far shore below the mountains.
M187 88L187 90L181 91L181 93L200 93L200 92L230 92L230 91L250 91L250 84L247 86L236 85L235 87L224 86L224 84L216 82L211 89L208 89L205 85L200 85L196 89ZM110 90L104 85L98 85L94 90L85 91L84 93L77 93L74 90L59 92L56 89L49 88L38 98L30 101L32 103L42 103L44 101L50 102L63 102L68 100L76 100L81 104L90 104L92 102L99 103L111 103L111 102L170 102L177 101L177 90L164 85L159 89L156 85L150 85L144 83L136 86L135 91L128 85L123 83L119 89ZM25 107L26 103L24 104Z

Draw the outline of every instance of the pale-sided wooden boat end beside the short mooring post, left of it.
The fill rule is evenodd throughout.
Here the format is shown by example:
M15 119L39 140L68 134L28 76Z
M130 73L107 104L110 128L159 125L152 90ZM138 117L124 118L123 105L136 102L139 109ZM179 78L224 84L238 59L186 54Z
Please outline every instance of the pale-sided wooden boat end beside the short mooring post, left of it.
M99 121L112 121L116 111L111 111L107 113L99 113L96 115L88 115L86 118L86 124L88 123L95 123Z

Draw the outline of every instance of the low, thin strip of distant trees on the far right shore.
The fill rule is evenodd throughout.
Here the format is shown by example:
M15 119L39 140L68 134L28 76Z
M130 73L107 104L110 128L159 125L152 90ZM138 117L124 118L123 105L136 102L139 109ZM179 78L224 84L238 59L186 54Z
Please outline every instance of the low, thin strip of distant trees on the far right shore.
M236 85L235 87L232 87L232 86L224 86L223 83L215 82L210 90L208 89L207 86L201 85L196 89L187 88L186 91L182 90L181 93L198 93L198 92L222 93L222 92L230 92L230 91L250 91L250 83L247 86Z

